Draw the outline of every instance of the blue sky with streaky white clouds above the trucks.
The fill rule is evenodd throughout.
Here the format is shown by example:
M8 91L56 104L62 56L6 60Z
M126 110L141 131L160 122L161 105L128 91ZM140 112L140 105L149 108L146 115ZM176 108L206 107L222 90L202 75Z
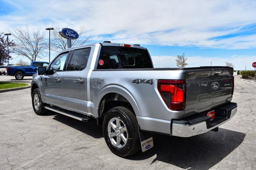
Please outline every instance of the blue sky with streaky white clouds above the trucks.
M188 57L187 67L228 61L235 69L245 65L253 69L256 61L254 0L0 0L0 4L0 32L26 25L42 32L52 25L85 26L90 42L147 47L155 67L176 67L175 57L182 53ZM14 55L12 62L18 59Z

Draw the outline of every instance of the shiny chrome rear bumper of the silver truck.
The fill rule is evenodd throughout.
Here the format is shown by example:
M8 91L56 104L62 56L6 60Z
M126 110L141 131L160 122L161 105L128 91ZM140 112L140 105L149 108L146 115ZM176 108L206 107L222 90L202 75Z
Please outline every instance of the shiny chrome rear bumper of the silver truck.
M172 123L172 136L190 137L208 132L209 130L219 127L220 125L229 121L236 114L236 111L237 107L234 107L231 110L230 117L228 119L210 128L207 128L206 121L202 121L194 125L182 125L178 124L176 121L176 123Z

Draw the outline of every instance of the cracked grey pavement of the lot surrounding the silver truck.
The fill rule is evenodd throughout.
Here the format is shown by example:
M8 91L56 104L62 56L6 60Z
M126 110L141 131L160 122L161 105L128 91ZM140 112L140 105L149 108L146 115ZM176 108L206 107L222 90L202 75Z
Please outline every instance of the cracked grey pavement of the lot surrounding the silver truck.
M96 121L50 111L38 116L30 89L0 93L0 169L256 169L254 89L256 82L236 76L238 112L218 132L190 138L154 134L154 148L129 158L110 152Z

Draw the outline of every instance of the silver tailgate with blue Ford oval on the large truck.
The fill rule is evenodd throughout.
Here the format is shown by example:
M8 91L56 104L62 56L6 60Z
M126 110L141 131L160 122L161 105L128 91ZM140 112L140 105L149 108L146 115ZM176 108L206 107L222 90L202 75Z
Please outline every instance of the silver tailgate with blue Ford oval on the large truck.
M230 102L233 71L232 67L187 68L184 117Z

